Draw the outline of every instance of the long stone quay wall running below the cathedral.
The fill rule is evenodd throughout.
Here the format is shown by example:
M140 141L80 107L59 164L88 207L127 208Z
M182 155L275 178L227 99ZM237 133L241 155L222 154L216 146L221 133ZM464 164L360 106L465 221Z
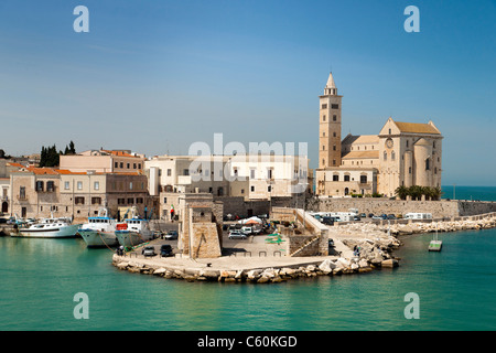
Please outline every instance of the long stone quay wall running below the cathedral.
M314 212L347 212L357 208L359 213L402 214L409 212L432 213L434 218L472 216L496 212L496 202L484 201L406 201L388 199L358 197L327 197L312 199L308 202L308 210Z

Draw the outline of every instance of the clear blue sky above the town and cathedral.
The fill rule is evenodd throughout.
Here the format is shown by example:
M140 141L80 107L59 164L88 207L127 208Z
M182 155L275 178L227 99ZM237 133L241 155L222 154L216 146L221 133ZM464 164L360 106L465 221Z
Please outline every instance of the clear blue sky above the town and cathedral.
M0 149L187 154L223 133L306 142L316 168L331 71L343 137L432 120L443 185L496 186L496 0L2 0Z

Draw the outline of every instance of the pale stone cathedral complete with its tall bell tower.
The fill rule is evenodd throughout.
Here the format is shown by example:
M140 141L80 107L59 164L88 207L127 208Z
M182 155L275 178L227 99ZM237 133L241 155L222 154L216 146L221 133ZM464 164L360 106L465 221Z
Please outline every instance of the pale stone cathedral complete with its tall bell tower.
M432 121L389 117L379 135L349 133L342 139L342 98L331 73L319 97L317 195L395 196L398 186L441 188L443 137Z

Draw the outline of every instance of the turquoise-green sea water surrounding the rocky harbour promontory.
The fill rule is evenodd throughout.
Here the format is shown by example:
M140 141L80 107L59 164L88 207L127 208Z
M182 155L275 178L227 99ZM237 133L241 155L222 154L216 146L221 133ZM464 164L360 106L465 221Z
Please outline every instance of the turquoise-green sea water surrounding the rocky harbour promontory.
M496 188L462 195L496 201ZM439 237L440 253L428 252L432 234L401 237L393 269L255 285L130 274L79 238L4 236L0 331L495 330L496 228Z

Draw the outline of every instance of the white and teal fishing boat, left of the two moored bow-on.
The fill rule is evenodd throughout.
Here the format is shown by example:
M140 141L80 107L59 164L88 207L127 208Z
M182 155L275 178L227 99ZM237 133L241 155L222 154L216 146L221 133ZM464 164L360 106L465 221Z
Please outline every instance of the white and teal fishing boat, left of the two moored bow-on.
M79 235L87 247L112 247L119 243L116 236L117 220L109 217L108 210L100 207L96 217L79 227Z

